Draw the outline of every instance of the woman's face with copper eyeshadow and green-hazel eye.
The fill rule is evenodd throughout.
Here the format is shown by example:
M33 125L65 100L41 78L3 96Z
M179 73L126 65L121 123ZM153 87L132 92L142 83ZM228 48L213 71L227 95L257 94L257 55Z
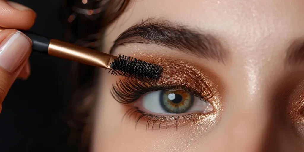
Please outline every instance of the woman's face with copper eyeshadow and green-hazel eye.
M100 70L93 151L302 151L304 1L139 0L103 52L163 68Z

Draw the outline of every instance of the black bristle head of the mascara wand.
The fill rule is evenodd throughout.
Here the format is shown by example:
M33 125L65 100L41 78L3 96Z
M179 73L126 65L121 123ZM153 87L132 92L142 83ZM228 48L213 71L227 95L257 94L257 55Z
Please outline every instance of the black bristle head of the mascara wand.
M163 68L136 58L119 55L111 63L111 74L135 79L159 79Z

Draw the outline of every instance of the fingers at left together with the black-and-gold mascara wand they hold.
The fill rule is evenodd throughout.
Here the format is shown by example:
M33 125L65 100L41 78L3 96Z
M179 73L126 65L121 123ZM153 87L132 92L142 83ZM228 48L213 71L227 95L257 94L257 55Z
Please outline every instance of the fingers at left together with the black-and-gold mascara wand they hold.
M27 60L31 50L43 54L74 60L83 64L111 70L111 74L140 80L157 80L162 67L124 55L113 56L71 43L48 39L17 29L29 29L35 13L26 6L0 0L0 112L2 102L17 77L29 76ZM11 18L11 16L16 16ZM29 40L30 39L30 40Z

